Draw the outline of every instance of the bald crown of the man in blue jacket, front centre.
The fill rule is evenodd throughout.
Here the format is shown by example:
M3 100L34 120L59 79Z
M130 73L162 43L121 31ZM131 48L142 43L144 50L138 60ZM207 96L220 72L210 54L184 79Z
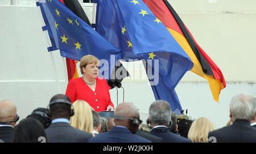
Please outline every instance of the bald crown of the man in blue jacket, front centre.
M137 108L129 103L129 102L123 102L117 106L115 109L115 115L120 115L122 117L132 118L132 117L138 117L139 112Z

